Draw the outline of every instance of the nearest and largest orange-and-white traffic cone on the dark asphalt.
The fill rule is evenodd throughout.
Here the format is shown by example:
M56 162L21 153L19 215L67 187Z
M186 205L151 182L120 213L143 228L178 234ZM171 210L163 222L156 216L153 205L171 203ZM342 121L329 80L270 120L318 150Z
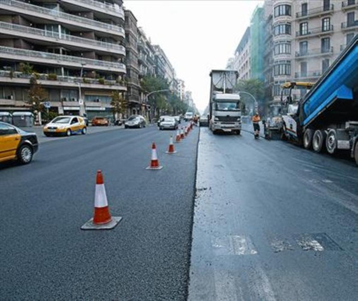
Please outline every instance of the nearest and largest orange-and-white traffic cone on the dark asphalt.
M86 222L82 230L112 229L120 222L121 217L112 217L108 208L106 188L103 182L102 171L97 171L95 188L95 210L93 218Z

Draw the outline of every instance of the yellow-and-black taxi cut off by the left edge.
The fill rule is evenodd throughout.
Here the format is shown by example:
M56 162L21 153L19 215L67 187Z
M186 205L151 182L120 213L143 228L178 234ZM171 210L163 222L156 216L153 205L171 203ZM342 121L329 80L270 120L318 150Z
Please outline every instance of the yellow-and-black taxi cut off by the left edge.
M0 162L17 159L22 164L30 163L37 149L35 133L0 122Z

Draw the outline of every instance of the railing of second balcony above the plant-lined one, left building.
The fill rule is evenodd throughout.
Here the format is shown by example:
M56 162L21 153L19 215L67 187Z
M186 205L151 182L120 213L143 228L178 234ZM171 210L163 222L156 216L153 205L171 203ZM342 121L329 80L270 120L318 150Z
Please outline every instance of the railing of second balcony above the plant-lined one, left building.
M106 42L92 40L92 39L84 39L84 38L80 38L80 37L74 36L74 35L67 35L67 34L63 34L63 33L57 33L55 31L47 31L47 30L43 30L43 29L32 28L32 27L28 27L28 26L22 26L22 25L6 23L6 22L0 22L0 28L14 30L14 31L26 33L26 34L43 36L46 38L54 38L54 39L59 39L59 40L63 40L63 41L80 43L80 44L84 44L84 45L88 45L88 46L89 45L98 46L101 48L105 48L107 50L109 50L109 49L115 50L118 53L121 53L123 55L126 54L126 49L124 48L124 46L118 45L118 44L106 43Z

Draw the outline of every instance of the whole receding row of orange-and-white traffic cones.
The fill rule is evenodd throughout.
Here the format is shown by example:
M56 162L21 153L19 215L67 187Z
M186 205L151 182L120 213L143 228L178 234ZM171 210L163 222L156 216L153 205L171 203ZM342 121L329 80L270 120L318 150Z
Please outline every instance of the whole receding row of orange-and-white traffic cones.
M187 136L190 129L193 128L193 123L191 122L189 126L185 127L185 132L179 133L179 130L176 133L176 142L179 142L184 138L184 135ZM179 138L178 138L179 136ZM178 140L179 139L179 140ZM169 147L167 154L175 154L176 151L174 149L173 136L170 136ZM161 169L163 166L159 165L158 157L156 154L155 143L152 144L152 156L150 161L150 166L146 169ZM98 170L96 174L96 187L95 187L95 209L93 211L93 218L89 219L84 225L81 227L82 230L109 230L113 229L117 226L117 224L121 221L122 217L119 216L111 216L108 207L106 188L103 181L102 171Z

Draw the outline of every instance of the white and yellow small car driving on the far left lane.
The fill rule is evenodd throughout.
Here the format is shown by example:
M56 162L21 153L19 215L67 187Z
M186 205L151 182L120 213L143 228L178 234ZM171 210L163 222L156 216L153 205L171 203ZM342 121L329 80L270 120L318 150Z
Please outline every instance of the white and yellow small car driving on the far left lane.
M71 136L73 134L86 134L86 122L81 116L57 116L43 128L45 136Z

